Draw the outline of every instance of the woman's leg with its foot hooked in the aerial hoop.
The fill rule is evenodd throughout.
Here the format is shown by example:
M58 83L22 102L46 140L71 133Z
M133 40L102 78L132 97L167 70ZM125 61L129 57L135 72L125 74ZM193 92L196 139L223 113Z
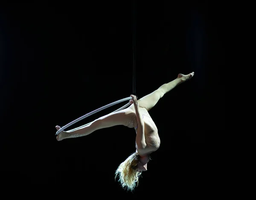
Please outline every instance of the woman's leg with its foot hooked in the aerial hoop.
M115 113L110 113L108 115L102 116L96 120L94 120L92 123L81 127L76 130L70 130L70 131L61 131L57 135L57 140L61 141L62 139L66 138L73 138L73 137L81 137L89 135L90 133L93 133L95 130L99 130L102 128L108 128L116 125L124 125L127 126L128 123L131 120L132 117L132 111L129 108L126 108L124 110L120 110ZM61 127L56 126L57 130L59 130Z

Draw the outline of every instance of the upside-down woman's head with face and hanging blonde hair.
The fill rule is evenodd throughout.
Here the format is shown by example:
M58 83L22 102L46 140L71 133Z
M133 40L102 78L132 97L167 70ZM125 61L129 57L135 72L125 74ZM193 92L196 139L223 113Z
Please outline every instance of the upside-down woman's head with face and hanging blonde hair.
M141 157L134 152L118 166L115 177L119 177L122 188L132 191L138 185L142 171L147 171L149 159L149 155Z

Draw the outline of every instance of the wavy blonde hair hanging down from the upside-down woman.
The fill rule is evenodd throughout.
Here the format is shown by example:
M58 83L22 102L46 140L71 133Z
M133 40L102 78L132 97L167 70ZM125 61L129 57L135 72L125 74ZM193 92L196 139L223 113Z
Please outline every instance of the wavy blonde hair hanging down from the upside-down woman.
M139 177L141 175L141 172L137 171L139 157L139 154L134 152L118 166L115 172L115 179L119 177L118 181L122 188L128 191L133 191L139 183Z

